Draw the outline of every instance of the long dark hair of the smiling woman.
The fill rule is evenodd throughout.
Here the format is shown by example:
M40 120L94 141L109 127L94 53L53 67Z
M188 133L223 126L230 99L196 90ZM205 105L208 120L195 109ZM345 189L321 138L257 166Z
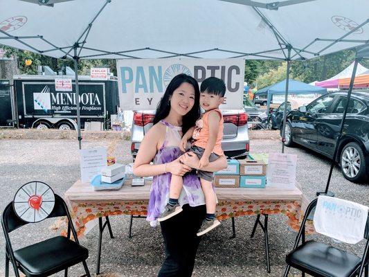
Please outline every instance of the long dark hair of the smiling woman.
M178 87L183 84L183 82L188 82L188 84L192 84L192 87L195 89L195 104L192 109L188 111L182 118L182 133L185 134L190 127L195 126L196 120L200 116L200 91L199 84L197 81L189 75L179 74L175 76L170 83L168 84L167 89L165 89L165 93L161 101L158 103L156 107L156 113L154 117L154 124L158 123L160 120L164 119L168 116L170 111L170 97L173 92L178 89Z

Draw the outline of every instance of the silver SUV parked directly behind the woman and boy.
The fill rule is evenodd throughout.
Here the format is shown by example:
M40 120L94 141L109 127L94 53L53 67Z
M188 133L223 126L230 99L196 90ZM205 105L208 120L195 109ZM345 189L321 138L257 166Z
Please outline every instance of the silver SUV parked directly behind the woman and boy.
M143 136L152 126L155 111L134 111L131 136L131 151L136 158ZM249 152L250 141L247 114L244 109L224 109L224 132L222 149L228 158L243 159Z

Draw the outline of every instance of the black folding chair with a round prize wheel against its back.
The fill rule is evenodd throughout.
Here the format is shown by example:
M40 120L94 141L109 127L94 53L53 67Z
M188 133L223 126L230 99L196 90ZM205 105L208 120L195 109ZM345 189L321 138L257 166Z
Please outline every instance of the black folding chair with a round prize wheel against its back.
M35 277L50 276L62 270L64 270L64 276L68 276L68 268L80 262L86 271L84 276L90 276L86 264L89 251L78 242L77 233L75 233L71 215L69 215L64 200L55 195L55 206L47 218L62 216L68 218L67 237L57 236L13 251L9 233L28 224L28 222L17 217L12 202L6 206L1 216L1 226L6 239L6 277L9 276L9 261L12 262L16 277L19 277L19 271L28 277ZM71 232L74 241L70 239Z

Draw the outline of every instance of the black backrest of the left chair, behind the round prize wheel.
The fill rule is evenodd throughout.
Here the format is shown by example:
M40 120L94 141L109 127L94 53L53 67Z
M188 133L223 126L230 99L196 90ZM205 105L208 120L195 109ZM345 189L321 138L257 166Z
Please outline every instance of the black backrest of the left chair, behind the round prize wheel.
M55 204L53 211L51 211L50 215L48 215L48 217L46 218L67 216L67 213L68 210L66 208L64 200L59 195L55 195ZM6 231L7 233L10 233L15 229L18 229L19 227L29 223L21 220L15 214L12 202L10 202L8 206L6 206L6 208L4 209L1 215L1 222L3 224L3 227L5 228L4 231Z

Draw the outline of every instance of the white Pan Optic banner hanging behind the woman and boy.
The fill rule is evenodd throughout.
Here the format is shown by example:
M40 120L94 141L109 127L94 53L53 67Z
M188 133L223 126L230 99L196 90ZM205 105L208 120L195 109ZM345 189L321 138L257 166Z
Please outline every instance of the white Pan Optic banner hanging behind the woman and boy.
M221 109L242 108L244 60L242 59L139 59L117 60L120 109L156 109L174 76L186 73L199 85L208 77L226 84Z

